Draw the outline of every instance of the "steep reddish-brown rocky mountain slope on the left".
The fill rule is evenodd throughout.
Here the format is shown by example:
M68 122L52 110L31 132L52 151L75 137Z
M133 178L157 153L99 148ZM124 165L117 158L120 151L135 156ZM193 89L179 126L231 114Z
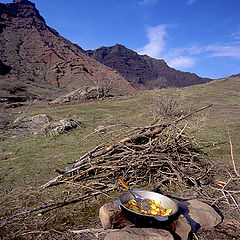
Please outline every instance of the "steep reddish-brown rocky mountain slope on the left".
M28 0L0 3L0 95L51 99L82 86L134 88L116 70L48 27ZM10 91L11 90L11 91Z

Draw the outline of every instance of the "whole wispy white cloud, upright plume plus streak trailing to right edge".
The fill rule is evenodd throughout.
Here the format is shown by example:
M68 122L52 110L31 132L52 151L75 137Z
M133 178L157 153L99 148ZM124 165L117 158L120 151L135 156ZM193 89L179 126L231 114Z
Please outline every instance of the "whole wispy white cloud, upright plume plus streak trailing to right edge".
M189 70L201 58L228 57L240 59L240 31L232 34L235 41L225 44L209 44L204 46L167 47L167 27L160 24L147 29L148 43L136 51L154 58L163 58L169 66ZM237 40L236 40L237 39Z

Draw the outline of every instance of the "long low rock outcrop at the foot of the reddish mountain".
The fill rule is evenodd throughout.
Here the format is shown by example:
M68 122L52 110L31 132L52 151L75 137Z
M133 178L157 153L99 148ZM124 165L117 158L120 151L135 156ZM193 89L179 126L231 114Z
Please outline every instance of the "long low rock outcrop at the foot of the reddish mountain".
M79 88L74 90L67 95L60 96L54 101L50 102L50 104L62 104L65 102L71 102L76 100L88 100L91 98L102 98L104 97L104 89L96 86Z

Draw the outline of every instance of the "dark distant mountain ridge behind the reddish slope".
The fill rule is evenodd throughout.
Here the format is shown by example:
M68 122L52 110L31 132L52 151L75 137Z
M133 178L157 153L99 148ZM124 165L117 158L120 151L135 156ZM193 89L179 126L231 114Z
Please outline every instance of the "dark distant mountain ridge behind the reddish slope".
M88 50L86 53L100 63L119 71L137 89L185 87L211 81L194 73L170 68L162 59L139 55L119 44Z

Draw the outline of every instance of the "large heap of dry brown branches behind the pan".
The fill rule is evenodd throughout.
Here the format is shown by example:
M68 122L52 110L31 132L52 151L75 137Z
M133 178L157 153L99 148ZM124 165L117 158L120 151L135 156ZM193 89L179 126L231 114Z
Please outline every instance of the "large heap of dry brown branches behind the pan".
M60 175L42 187L67 182L87 192L92 189L106 193L117 188L117 180L122 177L132 186L161 186L161 190L193 186L200 191L210 164L203 161L193 139L185 135L185 127L178 127L188 116L135 128L128 135L122 133L121 138L86 153L67 171L57 170Z

